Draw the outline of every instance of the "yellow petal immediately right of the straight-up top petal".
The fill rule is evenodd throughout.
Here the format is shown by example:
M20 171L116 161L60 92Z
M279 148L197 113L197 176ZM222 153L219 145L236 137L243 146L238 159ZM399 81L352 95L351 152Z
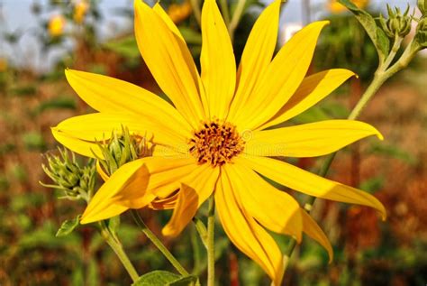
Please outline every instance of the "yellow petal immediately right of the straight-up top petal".
M242 106L245 106L257 80L266 71L273 57L277 42L280 3L281 0L276 0L268 5L250 31L241 54L241 63L237 72L238 87L228 115L230 121Z

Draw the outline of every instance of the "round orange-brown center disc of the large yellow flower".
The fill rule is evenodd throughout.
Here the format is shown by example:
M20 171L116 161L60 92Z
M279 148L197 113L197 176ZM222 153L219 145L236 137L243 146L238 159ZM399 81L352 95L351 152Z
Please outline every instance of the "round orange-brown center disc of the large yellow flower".
M190 153L201 164L210 163L213 167L222 166L240 154L244 141L236 127L229 123L205 123L203 128L195 131L189 141Z

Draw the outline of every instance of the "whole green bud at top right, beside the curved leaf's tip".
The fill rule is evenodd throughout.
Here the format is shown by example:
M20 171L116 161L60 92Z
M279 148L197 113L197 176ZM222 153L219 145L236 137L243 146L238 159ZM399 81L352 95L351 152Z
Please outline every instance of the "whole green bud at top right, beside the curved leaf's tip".
M400 9L395 7L395 11L387 5L388 19L385 19L382 14L379 14L379 23L381 28L386 32L386 35L394 39L395 36L404 37L411 32L411 16L409 13L409 5L404 11L404 14L400 12Z

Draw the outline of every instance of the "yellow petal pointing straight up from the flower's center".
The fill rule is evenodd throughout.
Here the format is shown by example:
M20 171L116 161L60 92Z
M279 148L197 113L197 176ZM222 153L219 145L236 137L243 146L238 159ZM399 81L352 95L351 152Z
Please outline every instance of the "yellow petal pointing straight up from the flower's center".
M227 115L236 84L236 62L232 41L214 0L202 9L202 82L211 118Z

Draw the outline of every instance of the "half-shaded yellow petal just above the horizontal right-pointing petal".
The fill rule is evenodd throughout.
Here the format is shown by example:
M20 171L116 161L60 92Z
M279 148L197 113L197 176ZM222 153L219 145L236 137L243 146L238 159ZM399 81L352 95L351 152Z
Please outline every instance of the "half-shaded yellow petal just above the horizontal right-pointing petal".
M303 113L327 97L333 90L340 87L344 81L354 76L349 69L329 69L307 78L296 89L295 94L286 102L268 123L261 125L259 129L278 125L287 119Z

